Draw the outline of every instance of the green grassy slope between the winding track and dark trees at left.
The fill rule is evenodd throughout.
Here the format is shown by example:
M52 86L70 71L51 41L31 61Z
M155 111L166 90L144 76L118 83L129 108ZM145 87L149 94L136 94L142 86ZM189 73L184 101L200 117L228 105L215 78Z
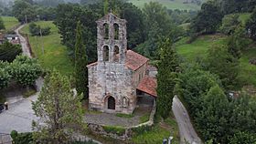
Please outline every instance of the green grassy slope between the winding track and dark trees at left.
M36 23L41 27L49 26L51 33L48 36L29 36L32 50L42 67L46 69L57 69L63 75L70 76L73 73L74 65L67 54L67 47L60 44L58 28L52 21L39 21ZM28 25L22 29L22 33L29 35ZM44 48L42 48L42 45ZM44 52L42 51L44 49Z

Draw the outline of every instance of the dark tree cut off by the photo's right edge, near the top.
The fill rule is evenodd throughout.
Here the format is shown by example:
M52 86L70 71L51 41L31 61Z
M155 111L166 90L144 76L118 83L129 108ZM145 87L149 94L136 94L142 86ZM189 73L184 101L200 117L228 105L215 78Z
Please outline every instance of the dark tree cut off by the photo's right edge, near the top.
M251 39L256 41L256 8L254 9L250 19L246 23L246 29L249 32Z

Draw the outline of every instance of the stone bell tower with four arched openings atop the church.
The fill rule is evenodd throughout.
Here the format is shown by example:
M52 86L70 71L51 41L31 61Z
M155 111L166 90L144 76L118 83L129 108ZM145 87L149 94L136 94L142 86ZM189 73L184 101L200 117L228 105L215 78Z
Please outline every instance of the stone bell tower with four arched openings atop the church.
M96 23L98 63L124 64L127 51L126 20L109 13Z

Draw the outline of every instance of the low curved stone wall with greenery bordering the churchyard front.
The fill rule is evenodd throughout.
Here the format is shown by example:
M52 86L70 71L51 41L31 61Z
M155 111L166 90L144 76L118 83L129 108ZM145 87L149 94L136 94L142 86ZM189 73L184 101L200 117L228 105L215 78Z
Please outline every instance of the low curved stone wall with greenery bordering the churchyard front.
M149 120L142 124L139 124L137 126L123 128L123 127L104 126L104 125L99 125L99 124L88 123L88 128L91 130L92 133L100 134L104 137L111 137L113 139L120 139L120 140L131 139L133 136L133 129L139 129L142 127L152 127L153 126L154 118L155 118L155 111L156 111L156 103L154 100L154 106L151 110Z

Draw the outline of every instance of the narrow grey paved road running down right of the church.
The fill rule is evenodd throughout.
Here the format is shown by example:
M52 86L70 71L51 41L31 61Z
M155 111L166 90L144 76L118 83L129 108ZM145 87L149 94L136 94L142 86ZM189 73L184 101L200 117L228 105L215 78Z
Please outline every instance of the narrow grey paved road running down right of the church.
M180 143L201 144L201 139L198 138L197 132L190 122L187 109L177 97L173 99L173 112L178 124Z

